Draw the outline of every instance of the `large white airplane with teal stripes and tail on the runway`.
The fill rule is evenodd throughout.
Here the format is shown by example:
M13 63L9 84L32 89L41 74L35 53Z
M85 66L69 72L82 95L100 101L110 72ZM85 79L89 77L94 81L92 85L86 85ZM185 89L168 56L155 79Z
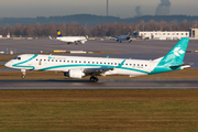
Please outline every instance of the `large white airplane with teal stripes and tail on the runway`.
M90 76L90 81L97 82L97 76L135 77L189 68L190 64L183 64L188 42L189 37L182 38L164 57L153 61L22 54L4 66L21 69L22 78L25 78L26 70L51 70L62 72L64 76L76 79Z

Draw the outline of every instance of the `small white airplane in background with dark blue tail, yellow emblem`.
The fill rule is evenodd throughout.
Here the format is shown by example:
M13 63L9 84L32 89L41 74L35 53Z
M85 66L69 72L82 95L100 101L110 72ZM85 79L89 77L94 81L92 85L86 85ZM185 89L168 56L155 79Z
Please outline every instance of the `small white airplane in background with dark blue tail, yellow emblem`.
M50 40L54 40L51 36L48 36L48 37L50 37ZM62 41L62 42L66 42L67 44L72 44L72 43L75 43L75 44L78 44L78 43L85 44L86 41L87 41L87 37L85 37L85 36L63 36L62 32L57 29L57 37L55 40Z

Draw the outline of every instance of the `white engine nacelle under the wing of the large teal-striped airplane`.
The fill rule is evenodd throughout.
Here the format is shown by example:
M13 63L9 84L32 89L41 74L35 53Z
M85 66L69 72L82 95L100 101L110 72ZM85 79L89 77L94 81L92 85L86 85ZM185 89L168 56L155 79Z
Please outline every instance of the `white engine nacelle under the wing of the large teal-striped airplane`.
M69 69L68 73L64 73L64 75L77 79L80 79L85 76L85 74L80 69Z

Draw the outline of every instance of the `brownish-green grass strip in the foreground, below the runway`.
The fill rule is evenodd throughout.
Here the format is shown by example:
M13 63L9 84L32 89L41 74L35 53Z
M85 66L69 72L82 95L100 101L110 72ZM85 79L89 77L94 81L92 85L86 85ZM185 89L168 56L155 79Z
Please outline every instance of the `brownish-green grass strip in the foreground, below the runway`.
M198 131L198 90L1 90L3 132Z

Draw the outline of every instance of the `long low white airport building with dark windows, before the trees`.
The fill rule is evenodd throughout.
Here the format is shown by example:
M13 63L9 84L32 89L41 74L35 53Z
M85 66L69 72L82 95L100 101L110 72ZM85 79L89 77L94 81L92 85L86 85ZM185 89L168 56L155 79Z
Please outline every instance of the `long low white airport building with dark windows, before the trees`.
M180 40L182 37L197 37L198 29L189 31L139 31L134 32L135 37L143 40Z

